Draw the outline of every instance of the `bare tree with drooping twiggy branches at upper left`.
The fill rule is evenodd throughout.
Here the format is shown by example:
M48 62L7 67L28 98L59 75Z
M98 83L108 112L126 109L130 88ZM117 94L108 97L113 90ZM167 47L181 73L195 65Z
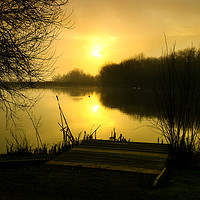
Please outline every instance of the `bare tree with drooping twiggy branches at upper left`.
M55 60L49 47L63 27L71 28L67 2L0 1L0 102L7 110L26 106L22 89L52 72Z

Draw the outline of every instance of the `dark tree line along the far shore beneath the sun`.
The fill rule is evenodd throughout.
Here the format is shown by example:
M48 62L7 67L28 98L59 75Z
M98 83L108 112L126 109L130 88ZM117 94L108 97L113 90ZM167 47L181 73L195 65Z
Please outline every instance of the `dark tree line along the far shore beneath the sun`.
M104 65L96 76L86 74L80 69L74 69L68 74L54 76L52 81L135 89L159 87L158 74L164 60L171 62L170 56L170 53L160 57L145 57L143 54L139 54L118 64ZM192 65L195 65L195 73L199 73L200 49L192 47L175 53L173 62L176 66L177 76L184 76L188 58ZM197 83L200 85L199 80Z

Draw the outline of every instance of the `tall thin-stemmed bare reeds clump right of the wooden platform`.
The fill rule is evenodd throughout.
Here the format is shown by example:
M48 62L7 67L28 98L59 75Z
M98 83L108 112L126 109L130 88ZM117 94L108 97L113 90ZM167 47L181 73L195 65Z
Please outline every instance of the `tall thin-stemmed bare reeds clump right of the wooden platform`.
M166 39L166 38L165 38ZM156 102L159 110L155 122L169 144L171 164L186 167L199 159L200 93L197 85L199 51L189 48L177 56L175 45L172 53L162 59L157 81ZM180 65L182 73L179 73Z

